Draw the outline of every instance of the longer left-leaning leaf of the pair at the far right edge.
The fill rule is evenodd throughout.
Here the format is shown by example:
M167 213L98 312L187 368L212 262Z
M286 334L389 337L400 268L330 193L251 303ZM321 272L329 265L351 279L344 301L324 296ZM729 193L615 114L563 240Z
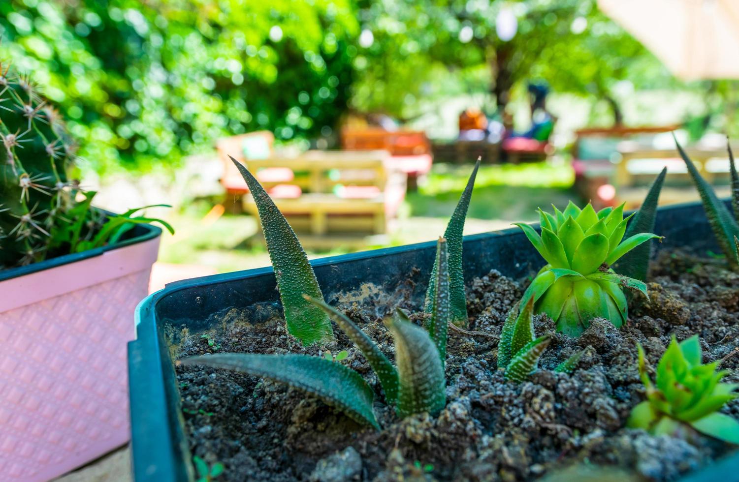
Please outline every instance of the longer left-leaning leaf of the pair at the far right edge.
M687 165L688 172L690 173L693 184L695 184L695 188L698 190L698 194L701 195L701 202L706 211L706 217L711 225L716 241L718 241L718 245L726 255L726 259L729 261L729 264L735 267L738 266L736 261L736 247L731 240L734 236L739 236L739 224L737 224L735 218L731 216L729 210L727 210L726 206L723 205L723 202L718 199L713 187L703 179L703 176L701 176L701 173L699 173L698 169L695 168L695 165L683 150L677 139L675 139L675 145L677 145L680 156L683 158L685 165Z

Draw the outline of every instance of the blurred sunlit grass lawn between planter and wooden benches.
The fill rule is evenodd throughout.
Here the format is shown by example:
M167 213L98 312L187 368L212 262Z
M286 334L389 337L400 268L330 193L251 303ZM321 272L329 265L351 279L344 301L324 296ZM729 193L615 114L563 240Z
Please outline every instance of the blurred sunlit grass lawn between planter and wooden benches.
M408 193L389 236L367 249L430 241L441 235L462 193L471 166L434 165L425 185ZM510 227L514 221L537 221L537 207L564 207L573 196L573 172L565 163L483 165L469 207L465 234ZM256 219L247 215L214 216L210 205L196 203L168 221L177 228L162 240L160 261L212 266L218 272L269 264ZM336 255L347 249L308 252L310 258Z

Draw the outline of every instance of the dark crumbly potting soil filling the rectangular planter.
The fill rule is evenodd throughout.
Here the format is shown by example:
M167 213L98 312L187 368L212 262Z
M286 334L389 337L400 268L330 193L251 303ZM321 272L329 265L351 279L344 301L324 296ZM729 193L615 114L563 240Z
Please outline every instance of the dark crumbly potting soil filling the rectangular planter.
M524 283L492 271L468 286L469 331L449 332L447 404L436 417L398 419L386 407L377 377L347 337L335 329L333 354L361 373L377 394L381 431L357 424L313 396L255 376L197 366L177 367L183 417L193 455L221 462L223 481L516 481L551 477L576 480L582 471L607 466L609 475L579 480L669 481L734 450L715 439L689 441L624 428L631 408L644 399L636 368L637 343L655 366L674 334L701 337L704 362L723 359L725 382L739 382L739 275L722 261L685 252L661 255L653 264L650 300L630 302L621 329L595 319L579 338L554 334L530 382L506 382L496 368L497 340ZM329 300L343 309L393 359L392 337L382 317L395 306L412 311L414 276L392 293L363 286ZM415 315L418 321L420 315ZM189 333L171 327L175 358L248 352L307 353L269 307L231 309L219 328ZM537 336L554 332L545 315ZM554 367L587 348L571 375ZM723 412L739 419L739 400ZM624 472L613 472L621 469ZM614 473L616 475L614 475ZM613 477L613 479L611 479Z

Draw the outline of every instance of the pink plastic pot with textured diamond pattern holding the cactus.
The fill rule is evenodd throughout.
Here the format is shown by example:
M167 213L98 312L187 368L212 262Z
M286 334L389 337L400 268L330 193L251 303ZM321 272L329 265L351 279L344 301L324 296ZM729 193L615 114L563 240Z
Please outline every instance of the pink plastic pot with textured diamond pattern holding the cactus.
M0 281L0 480L47 481L129 440L126 342L158 247Z

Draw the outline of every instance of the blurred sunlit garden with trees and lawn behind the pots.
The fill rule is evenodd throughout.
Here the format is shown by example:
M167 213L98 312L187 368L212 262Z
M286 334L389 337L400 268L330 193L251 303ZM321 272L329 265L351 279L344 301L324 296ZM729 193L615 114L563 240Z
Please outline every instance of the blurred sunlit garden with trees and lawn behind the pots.
M222 181L218 142L241 134L271 133L271 159L357 148L351 129L404 132L411 151L389 154L432 159L409 171L385 229L353 243L316 228L311 256L436 238L478 155L466 233L536 221L552 202L617 202L658 170L635 164L644 182L619 186L616 164L635 145L674 151L673 130L696 149L739 134L737 81L676 77L594 0L4 0L0 13L0 58L67 118L98 205L173 206L151 213L177 229L160 261L182 277L268 264L244 193ZM525 133L542 90L539 138ZM330 190L365 199L342 190L355 184Z

